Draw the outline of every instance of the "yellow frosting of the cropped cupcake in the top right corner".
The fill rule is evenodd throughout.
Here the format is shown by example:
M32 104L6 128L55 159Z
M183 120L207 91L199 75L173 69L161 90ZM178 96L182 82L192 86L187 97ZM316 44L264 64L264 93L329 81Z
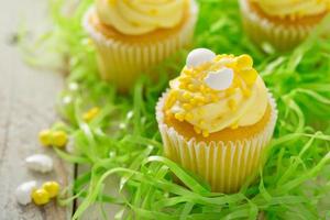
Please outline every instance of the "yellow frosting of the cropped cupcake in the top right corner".
M330 0L251 0L268 15L296 18L329 12Z

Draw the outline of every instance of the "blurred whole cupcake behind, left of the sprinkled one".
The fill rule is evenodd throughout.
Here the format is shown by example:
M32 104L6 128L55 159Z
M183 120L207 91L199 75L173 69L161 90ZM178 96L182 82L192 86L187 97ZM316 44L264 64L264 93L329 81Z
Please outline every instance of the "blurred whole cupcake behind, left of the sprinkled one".
M197 20L194 0L96 0L84 16L95 43L101 77L120 90L189 46Z

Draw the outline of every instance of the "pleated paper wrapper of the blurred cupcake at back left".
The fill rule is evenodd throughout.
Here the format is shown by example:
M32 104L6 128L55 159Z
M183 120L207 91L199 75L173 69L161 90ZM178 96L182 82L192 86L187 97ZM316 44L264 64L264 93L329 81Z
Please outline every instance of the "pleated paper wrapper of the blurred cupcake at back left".
M193 3L189 19L182 30L168 37L147 43L129 43L107 37L90 24L89 18L95 13L95 8L90 8L82 24L96 45L101 77L114 82L120 90L131 88L141 74L157 78L156 73L151 72L152 67L191 44L197 12L197 4Z

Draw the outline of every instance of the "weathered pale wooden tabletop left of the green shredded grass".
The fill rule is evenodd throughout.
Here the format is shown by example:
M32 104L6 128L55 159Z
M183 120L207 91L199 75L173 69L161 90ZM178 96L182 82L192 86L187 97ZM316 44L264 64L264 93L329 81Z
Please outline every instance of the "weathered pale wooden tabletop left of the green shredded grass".
M20 184L36 179L55 179L63 185L72 180L73 166L55 156L51 148L37 142L40 130L57 120L56 95L63 87L58 74L29 68L10 38L24 21L31 32L46 24L47 2L44 0L4 1L0 8L0 219L68 219L72 207L61 208L54 202L43 208L16 204L14 190ZM36 174L26 169L24 158L46 153L54 158L55 172Z

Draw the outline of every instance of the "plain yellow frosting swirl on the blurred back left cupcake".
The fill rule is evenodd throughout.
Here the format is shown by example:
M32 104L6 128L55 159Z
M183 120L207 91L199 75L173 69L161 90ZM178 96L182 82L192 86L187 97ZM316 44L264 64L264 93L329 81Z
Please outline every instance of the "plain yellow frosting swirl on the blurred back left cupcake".
M188 4L189 0L96 0L100 21L128 35L176 26Z

